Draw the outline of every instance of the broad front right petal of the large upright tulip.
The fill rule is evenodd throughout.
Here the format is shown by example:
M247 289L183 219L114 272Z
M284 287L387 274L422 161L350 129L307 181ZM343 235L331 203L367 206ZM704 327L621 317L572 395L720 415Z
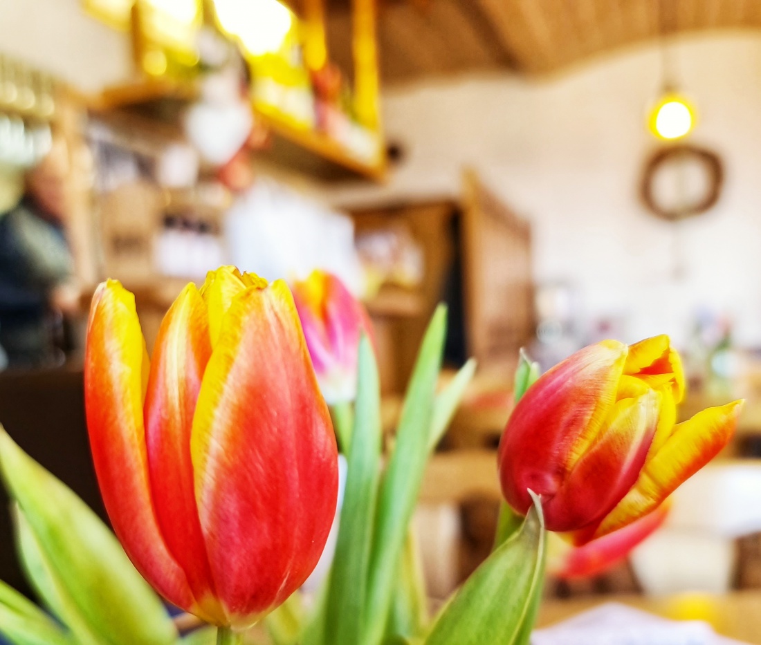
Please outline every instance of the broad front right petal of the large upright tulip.
M191 455L215 586L242 627L306 580L336 509L336 439L284 282L233 300Z

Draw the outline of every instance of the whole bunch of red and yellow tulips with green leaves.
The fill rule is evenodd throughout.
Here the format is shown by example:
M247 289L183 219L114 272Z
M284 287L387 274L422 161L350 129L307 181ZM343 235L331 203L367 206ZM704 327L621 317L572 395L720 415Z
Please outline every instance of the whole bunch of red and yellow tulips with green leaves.
M116 537L0 431L18 553L42 605L0 584L0 634L16 645L257 643L260 623L275 645L528 643L547 532L574 545L570 570L630 548L728 442L740 402L676 424L684 379L666 336L591 345L542 377L523 357L495 464L505 504L494 550L431 616L410 519L475 369L437 389L445 327L440 307L384 442L368 317L333 276L291 292L219 268L174 302L150 360L134 297L101 284L85 404ZM321 557L330 571L307 598ZM165 602L205 626L180 634Z

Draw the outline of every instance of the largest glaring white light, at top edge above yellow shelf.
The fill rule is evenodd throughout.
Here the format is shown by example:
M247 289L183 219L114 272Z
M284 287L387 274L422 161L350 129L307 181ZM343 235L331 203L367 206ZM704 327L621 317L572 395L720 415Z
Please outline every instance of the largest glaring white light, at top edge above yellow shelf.
M291 10L278 0L215 0L214 5L222 29L253 56L278 52L293 24Z

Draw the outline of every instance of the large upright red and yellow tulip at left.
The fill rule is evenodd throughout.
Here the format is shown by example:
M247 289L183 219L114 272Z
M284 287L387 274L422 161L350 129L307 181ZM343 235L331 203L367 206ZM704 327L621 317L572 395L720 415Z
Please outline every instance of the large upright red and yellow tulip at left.
M336 510L336 440L282 281L223 267L188 284L149 361L135 298L100 285L85 404L100 491L164 598L240 628L285 601Z

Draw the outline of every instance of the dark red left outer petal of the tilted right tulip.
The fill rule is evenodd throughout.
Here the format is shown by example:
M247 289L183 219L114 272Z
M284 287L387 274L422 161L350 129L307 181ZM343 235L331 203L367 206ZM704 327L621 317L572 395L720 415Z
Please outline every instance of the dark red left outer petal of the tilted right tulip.
M558 492L607 422L625 360L622 343L590 345L552 367L517 403L499 444L502 492L514 510L528 512L529 488L543 499Z

